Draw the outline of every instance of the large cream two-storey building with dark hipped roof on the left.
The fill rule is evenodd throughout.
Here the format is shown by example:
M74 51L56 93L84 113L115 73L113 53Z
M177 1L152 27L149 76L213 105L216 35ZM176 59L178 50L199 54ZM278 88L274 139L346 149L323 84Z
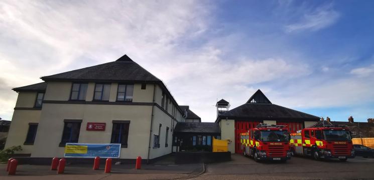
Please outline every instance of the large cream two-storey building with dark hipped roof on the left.
M62 157L67 142L120 143L121 159L172 152L184 111L160 79L127 55L41 79L13 89L19 95L6 148L22 145L18 156Z

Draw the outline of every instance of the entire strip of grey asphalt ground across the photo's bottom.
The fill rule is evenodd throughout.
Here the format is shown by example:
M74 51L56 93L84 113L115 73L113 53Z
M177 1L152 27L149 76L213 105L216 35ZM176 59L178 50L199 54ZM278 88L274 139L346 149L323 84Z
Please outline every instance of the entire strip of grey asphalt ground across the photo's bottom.
M287 162L255 162L239 154L221 163L174 164L160 161L144 164L112 165L111 173L92 170L92 165L67 165L64 174L56 174L46 165L19 165L17 175L7 175L6 165L0 165L0 179L374 179L374 158L356 157L341 162L337 159L316 161L293 157ZM203 168L204 167L204 168ZM4 169L4 170L2 170Z

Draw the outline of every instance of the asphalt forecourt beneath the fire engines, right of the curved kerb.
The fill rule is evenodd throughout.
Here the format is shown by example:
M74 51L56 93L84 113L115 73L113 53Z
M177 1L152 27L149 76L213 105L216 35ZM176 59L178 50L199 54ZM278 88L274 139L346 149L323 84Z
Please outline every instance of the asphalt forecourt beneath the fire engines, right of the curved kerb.
M255 162L239 154L232 160L206 164L206 171L196 179L374 179L374 158L356 157L316 161L293 157L287 162Z

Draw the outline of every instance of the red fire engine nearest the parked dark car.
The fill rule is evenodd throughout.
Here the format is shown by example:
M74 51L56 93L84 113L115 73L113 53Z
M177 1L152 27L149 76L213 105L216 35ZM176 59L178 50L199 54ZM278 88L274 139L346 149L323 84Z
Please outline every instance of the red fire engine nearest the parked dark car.
M292 154L313 156L316 160L338 158L346 161L347 158L354 158L353 144L346 126L312 126L290 135Z

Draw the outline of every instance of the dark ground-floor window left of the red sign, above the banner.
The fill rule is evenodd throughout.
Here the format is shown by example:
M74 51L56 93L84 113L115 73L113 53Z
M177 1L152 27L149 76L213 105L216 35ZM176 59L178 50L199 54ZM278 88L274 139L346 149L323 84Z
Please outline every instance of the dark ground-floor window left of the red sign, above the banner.
M65 120L60 146L65 146L67 142L78 142L81 123L82 120Z

